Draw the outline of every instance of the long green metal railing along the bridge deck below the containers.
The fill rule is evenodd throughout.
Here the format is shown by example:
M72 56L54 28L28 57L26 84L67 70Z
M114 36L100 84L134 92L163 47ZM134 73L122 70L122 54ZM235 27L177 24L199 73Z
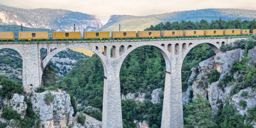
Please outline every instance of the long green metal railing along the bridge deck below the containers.
M241 38L252 37L253 34L243 35L202 35L202 36L176 36L176 37L131 37L131 38L62 38L62 39L1 39L1 44L9 43L71 43L71 42L105 42L105 41L156 41L156 40L191 40L211 38Z

